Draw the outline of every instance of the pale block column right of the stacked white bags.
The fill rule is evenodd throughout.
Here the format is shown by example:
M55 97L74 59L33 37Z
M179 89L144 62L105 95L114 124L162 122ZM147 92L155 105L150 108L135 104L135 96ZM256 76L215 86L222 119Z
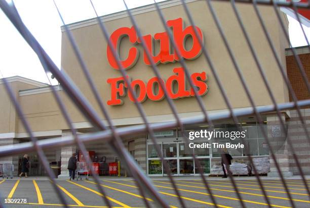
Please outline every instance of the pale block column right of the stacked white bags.
M285 124L285 116L282 115L281 119ZM290 171L290 160L289 160L289 145L287 143L287 137L285 136L284 129L281 126L279 117L276 114L267 115L267 129L268 129L268 140L274 150L277 163L280 166L280 170L283 176L292 176L293 173ZM269 154L271 155L270 151ZM270 172L268 177L278 177L279 173L275 165L275 161L270 158Z

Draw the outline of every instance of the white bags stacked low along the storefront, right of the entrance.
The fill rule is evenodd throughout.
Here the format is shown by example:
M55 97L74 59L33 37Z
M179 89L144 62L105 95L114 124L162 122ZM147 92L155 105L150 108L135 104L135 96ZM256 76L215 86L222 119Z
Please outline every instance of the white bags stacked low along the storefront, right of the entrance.
M253 164L258 172L258 174L267 174L270 170L269 158L252 158ZM231 163L230 171L234 175L247 175L248 169L245 163ZM223 175L222 166L220 164L214 164L211 168L211 173L213 175ZM252 174L254 174L254 169L252 168Z

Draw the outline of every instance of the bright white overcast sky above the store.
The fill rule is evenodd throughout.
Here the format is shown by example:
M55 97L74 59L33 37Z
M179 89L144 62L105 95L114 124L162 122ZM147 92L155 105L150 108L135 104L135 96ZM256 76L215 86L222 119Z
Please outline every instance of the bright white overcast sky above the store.
M112 4L107 4L112 2ZM160 1L158 1L160 2ZM61 30L59 15L52 0L14 1L22 20L41 43L51 59L60 66ZM122 0L93 0L98 14L106 15L125 10ZM129 8L152 4L152 0L127 0ZM89 0L56 0L66 23L77 22L95 17ZM291 17L289 33L293 46L306 45L299 23ZM48 82L44 70L32 49L17 32L15 27L0 10L0 70L4 77L19 75L41 82ZM310 29L306 28L308 39ZM1 75L0 75L1 78ZM57 83L57 82L54 82Z

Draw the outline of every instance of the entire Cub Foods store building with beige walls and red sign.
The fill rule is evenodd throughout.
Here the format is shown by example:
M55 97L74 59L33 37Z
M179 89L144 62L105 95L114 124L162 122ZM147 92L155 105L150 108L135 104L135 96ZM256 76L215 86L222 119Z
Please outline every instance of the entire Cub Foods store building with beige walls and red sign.
M258 69L251 56L250 50L243 38L242 31L229 6L215 2L215 10L221 21L224 32L235 53L250 91L257 106L270 105L272 102L268 96ZM249 107L250 103L241 85L240 79L227 54L226 48L222 43L218 30L208 12L206 3L203 1L192 1L187 4L204 46L208 50L217 69L223 87L225 88L231 105L234 109ZM181 55L185 59L193 83L198 86L199 94L210 113L226 110L227 107L221 96L220 90L210 71L204 56L201 55L201 47L195 36L193 36L192 26L178 1L167 1L160 3L162 12L167 20L167 25L172 29L174 39L181 50ZM272 87L273 93L278 103L290 101L290 95L281 77L278 66L274 60L272 51L260 28L255 13L250 5L238 5L242 14L245 27L251 37L253 45L258 54L258 58L265 70L267 79ZM266 27L274 42L277 53L280 55L282 65L287 69L293 88L297 93L298 99L309 98L309 95L302 85L302 80L294 58L278 23L278 19L272 12L272 8L260 8ZM184 77L184 70L178 62L178 57L168 35L162 26L156 8L153 5L140 7L132 10L137 24L141 28L141 33L152 52L154 62L167 86L168 93L173 98L179 116L193 117L201 115L196 98L189 87L188 80ZM283 21L288 27L288 21L282 15ZM158 80L154 78L153 71L145 57L127 12L119 12L101 17L105 23L112 43L118 48L124 67L137 90L138 99L151 123L169 121L173 119L172 112L168 106L162 89L159 88ZM152 24L150 24L152 20ZM113 123L118 127L141 124L142 119L134 105L132 95L128 92L124 79L121 76L115 60L111 56L111 51L101 33L96 19L89 19L68 25L76 43L79 45L82 56L90 70L92 78L99 89L102 101L105 103ZM94 96L87 84L86 78L74 56L72 47L62 28L62 48L61 66L62 69L78 85L83 94L92 103L98 114L102 116ZM309 76L309 51L307 47L296 48L298 55ZM38 139L51 137L67 136L70 134L61 112L55 102L51 89L47 84L29 80L22 77L9 78L12 89L16 92L16 97L24 110L27 121ZM92 126L75 109L71 101L62 91L61 86L57 87L58 93L67 106L67 110L74 127L79 133L92 132ZM6 94L3 82L0 80L0 145L9 145L29 141L29 137L23 128L19 117L13 108L12 102ZM283 111L282 119L289 127L289 133L294 140L294 147L297 157L304 173L310 173L309 152L310 146L306 142L305 134L299 128L300 121L296 111ZM302 109L302 114L307 122L310 120L310 109ZM276 149L276 156L281 169L286 175L298 174L295 162L292 160L291 150L288 148L283 129L281 128L278 117L274 113L262 115L264 120L263 128L268 131L268 139ZM104 117L102 120L105 122ZM269 158L269 148L264 142L261 128L257 125L254 117L239 118L243 129L246 130L246 144L249 146L251 154L255 158ZM184 135L195 130L205 130L206 123L185 126L184 134L180 129L170 129L156 132L158 143L161 145L165 160L168 160L171 171L174 175L196 175L197 169L191 157L191 149L184 143ZM215 124L217 131L236 131L232 121L226 120ZM149 176L163 176L165 171L162 161L159 158L154 145L146 134L135 137L122 138L124 144L134 159ZM219 143L225 143L229 139L217 138ZM202 138L196 138L193 142L200 144L207 142ZM238 143L236 139L234 142ZM94 162L100 163L100 174L106 174L104 165L109 162L118 161L117 155L110 151L109 147L102 143L88 143L87 149L92 155ZM195 148L195 154L203 165L206 174L210 173L212 167L220 163L220 149L218 148ZM228 149L235 162L246 163L245 152L243 149ZM73 152L79 152L76 146L62 147L57 150L46 151L48 159L61 163L61 176L67 176L67 162ZM30 175L45 175L40 162L38 162L35 152L29 153L30 156ZM2 158L2 163L13 163L18 167L22 155L16 157ZM81 158L81 157L80 157ZM58 163L58 164L60 164ZM122 165L122 164L121 164ZM15 168L15 172L19 171ZM122 174L125 170L122 169ZM277 175L274 162L270 160L269 176Z

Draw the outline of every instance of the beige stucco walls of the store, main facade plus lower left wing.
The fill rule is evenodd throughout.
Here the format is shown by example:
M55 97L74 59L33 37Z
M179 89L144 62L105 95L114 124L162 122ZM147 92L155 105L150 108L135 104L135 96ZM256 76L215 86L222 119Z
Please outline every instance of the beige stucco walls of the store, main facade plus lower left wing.
M255 104L257 106L269 105L271 101L269 97L266 96L267 91L264 87L262 79L260 78L258 69L231 6L227 3L219 2L212 2L212 4L216 9L230 46L234 51L238 64L249 85L251 93L254 96ZM248 107L250 104L243 86L241 85L240 79L238 78L234 66L230 61L226 48L220 38L206 3L204 1L197 1L189 3L188 7L193 15L196 25L203 31L205 47L211 56L228 98L231 101L232 107ZM281 78L280 72L272 55L272 51L268 46L252 6L241 4L238 5L238 8L241 12L245 27L251 37L251 41L256 49L262 67L265 70L277 102L288 101L285 84ZM140 10L142 9L140 8ZM189 21L186 18L186 14L181 5L165 8L162 11L167 20L182 17L185 27L189 26ZM260 7L260 11L285 67L284 48L287 47L287 44L283 41L283 35L281 35L282 31L280 29L278 19L274 14L273 9L270 7ZM140 26L143 35L151 34L153 36L155 33L165 31L156 11L135 15L135 19L137 20L137 24ZM105 24L110 33L120 27L132 26L129 18L124 16L119 19L107 21ZM97 24L93 24L75 28L71 31L77 44L79 45L79 49L86 65L88 66L92 78L99 89L102 101L106 104L106 101L110 99L110 85L106 82L106 80L108 78L120 77L121 73L112 69L107 62L107 44L99 29L99 26ZM127 40L128 39L125 37L121 43L121 58L123 59L127 56L126 53L128 48L132 46ZM141 79L144 82L147 82L151 77L154 77L154 74L151 67L145 65L143 62L143 49L141 45L138 44L136 47L140 51L139 59L133 68L127 70L127 73L132 79ZM204 56L201 55L194 61L186 61L186 64L190 74L194 72L201 73L203 71L207 73L209 92L202 97L207 110L226 109L225 102ZM62 33L61 66L62 69L68 73L75 84L78 85L83 94L99 113L100 111L98 105L96 104L94 96L88 87L84 74L80 69L79 63L75 58L70 43L64 32ZM176 67L180 67L180 64L169 63L158 65L159 71L164 79L167 79L169 76L173 75L174 73L172 70ZM4 97L2 99L3 101L0 101L0 111L2 111L0 113L3 115L2 118L0 118L0 133L12 132L14 130L16 132L24 132L20 121L18 120L17 122L14 122L16 115L14 112L11 112L10 101L7 99L6 95L3 95L5 90L1 89L2 87L3 86L0 85L0 96ZM25 87L23 86L22 89L25 89ZM18 93L18 90L15 90L15 92ZM73 119L73 122L85 122L86 120L84 117L75 109L75 107L73 107L72 103L64 95L64 92L60 91L60 94L66 103L68 113ZM129 100L128 96L122 97L122 99L124 100L124 105L122 106L107 106L111 118L120 119L139 117L134 103ZM33 131L48 131L67 128L51 92L20 96L19 101ZM194 97L177 99L174 100L174 103L179 113L200 111ZM171 110L166 99L161 101L151 101L147 99L142 103L142 106L147 116L171 114ZM99 115L103 118L101 113L99 113Z

